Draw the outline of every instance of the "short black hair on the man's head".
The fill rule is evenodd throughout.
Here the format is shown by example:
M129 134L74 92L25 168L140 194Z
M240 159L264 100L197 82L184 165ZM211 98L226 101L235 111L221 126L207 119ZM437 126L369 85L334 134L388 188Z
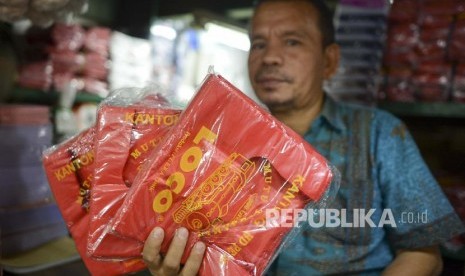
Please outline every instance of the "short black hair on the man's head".
M262 3L266 2L293 2L302 1L307 2L318 11L318 28L320 29L321 35L323 36L323 47L327 47L335 42L334 38L334 23L333 23L333 12L326 5L324 0L256 0L254 3L254 9L257 9Z

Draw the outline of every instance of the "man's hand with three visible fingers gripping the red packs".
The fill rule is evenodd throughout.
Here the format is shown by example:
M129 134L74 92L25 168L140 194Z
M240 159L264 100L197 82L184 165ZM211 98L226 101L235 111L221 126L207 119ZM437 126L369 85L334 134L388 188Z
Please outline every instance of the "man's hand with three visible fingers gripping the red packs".
M145 241L142 257L150 273L157 276L196 275L202 264L205 244L197 242L192 248L186 263L181 268L181 257L184 254L189 232L184 227L177 229L168 252L165 257L162 257L160 255L160 248L164 236L163 229L155 227Z

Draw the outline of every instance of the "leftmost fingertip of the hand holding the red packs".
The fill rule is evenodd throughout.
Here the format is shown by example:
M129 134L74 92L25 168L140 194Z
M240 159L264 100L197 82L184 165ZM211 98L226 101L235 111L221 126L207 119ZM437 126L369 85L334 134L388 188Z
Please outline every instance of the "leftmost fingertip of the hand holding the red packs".
M155 227L144 244L142 257L147 267L152 270L157 270L161 265L160 248L163 243L165 233L160 227Z

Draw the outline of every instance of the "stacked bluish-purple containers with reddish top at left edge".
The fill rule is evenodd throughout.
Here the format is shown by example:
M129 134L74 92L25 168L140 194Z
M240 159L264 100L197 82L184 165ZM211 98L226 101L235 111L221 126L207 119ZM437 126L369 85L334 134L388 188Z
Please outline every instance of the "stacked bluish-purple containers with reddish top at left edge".
M42 166L52 144L49 110L0 105L1 255L22 253L68 235Z

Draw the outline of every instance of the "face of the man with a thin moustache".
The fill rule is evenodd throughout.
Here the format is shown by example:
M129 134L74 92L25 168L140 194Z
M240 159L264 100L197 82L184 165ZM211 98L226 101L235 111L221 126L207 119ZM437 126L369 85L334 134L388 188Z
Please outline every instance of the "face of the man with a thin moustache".
M249 78L273 111L311 106L328 72L317 10L303 1L266 2L251 25Z

